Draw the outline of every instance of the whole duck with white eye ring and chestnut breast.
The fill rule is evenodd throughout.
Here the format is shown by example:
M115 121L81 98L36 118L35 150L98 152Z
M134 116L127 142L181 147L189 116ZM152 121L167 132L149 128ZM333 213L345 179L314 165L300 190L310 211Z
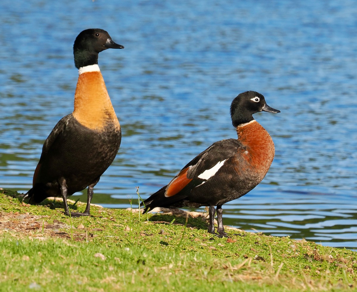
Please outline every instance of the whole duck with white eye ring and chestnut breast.
M232 125L238 139L213 143L188 162L171 182L141 203L144 213L155 207L181 208L209 206L209 233L226 236L222 205L235 200L258 185L273 161L275 148L268 132L253 119L260 111L278 113L255 91L239 94L231 104Z

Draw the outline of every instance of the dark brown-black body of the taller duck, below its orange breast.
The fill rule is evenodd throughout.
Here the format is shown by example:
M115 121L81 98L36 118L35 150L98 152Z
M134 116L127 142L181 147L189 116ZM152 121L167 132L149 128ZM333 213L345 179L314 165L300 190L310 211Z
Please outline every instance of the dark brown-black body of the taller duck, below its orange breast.
M72 114L62 118L42 149L36 167L30 202L61 196L65 179L67 197L99 181L119 150L121 131L108 122L101 131L81 125Z

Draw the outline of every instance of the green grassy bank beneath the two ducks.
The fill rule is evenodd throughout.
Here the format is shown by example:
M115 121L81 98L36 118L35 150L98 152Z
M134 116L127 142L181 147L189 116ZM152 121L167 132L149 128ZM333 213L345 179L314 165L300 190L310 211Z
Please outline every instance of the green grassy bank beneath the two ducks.
M234 229L212 237L200 216L93 206L92 216L69 218L60 201L32 206L17 196L0 191L0 291L351 291L357 283L350 250Z

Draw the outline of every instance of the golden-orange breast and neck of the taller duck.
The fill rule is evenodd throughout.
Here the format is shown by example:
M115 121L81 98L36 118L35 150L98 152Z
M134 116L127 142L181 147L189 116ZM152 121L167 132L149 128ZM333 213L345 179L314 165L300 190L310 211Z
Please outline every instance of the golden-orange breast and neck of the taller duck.
M108 123L120 129L101 72L79 75L72 115L80 124L92 130L101 131Z

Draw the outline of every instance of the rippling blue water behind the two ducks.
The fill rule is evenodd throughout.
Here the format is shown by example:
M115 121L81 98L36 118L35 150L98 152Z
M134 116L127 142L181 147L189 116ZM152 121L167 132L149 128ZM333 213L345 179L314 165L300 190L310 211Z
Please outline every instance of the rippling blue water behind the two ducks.
M99 27L125 46L99 55L123 137L94 203L129 207L136 186L146 198L236 137L230 102L255 90L281 110L255 114L276 156L223 222L356 248L356 15L354 0L3 0L0 186L31 187L44 140L73 109L75 37Z

